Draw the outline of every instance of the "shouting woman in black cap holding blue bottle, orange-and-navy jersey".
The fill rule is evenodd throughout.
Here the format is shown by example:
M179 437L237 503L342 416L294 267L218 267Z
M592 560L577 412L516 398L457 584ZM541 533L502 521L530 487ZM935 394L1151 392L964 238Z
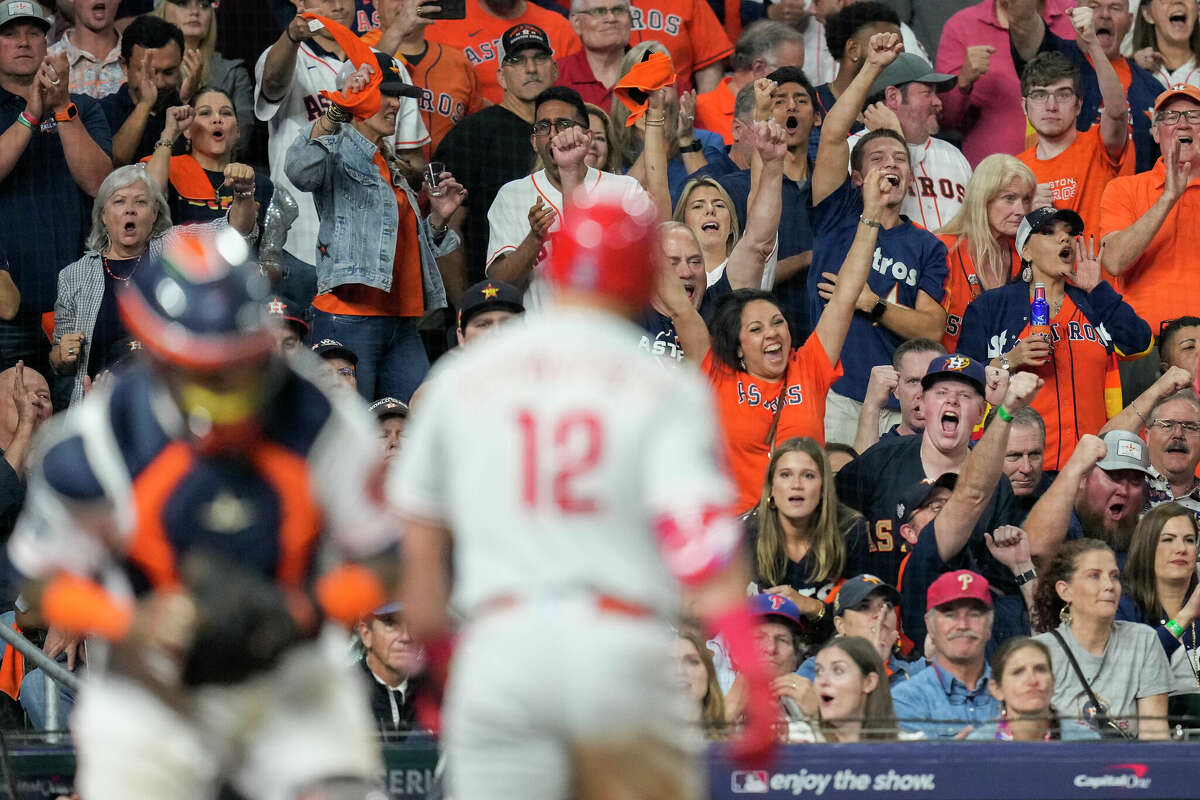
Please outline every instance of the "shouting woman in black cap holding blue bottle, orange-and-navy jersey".
M964 355L1045 380L1031 408L1046 423L1048 471L1067 463L1080 437L1098 433L1121 410L1120 387L1105 386L1112 356L1136 359L1153 343L1150 325L1100 279L1096 237L1085 247L1082 233L1074 211L1030 212L1016 231L1024 279L972 300L959 338ZM1045 287L1048 319L1034 327L1037 284Z

